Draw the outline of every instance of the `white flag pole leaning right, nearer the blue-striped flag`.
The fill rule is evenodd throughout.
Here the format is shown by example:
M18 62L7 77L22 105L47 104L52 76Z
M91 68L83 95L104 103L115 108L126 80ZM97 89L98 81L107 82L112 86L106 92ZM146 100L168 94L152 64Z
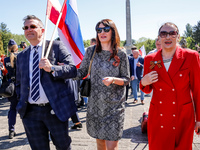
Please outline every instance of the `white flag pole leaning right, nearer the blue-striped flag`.
M65 5L66 1L67 1L67 0L65 0L65 1L63 2L62 9L61 9L61 11L60 11L60 14L59 14L59 17L58 17L56 26L55 26L55 28L54 28L54 31L53 31L53 34L52 34L52 37L51 37L51 41L50 41L50 43L49 43L49 46L48 46L48 49L47 49L47 52L46 52L46 55L45 55L45 58L47 58L47 57L49 56L49 52L50 52L51 46L52 46L52 44L53 44L53 38L54 38L54 36L55 36L56 29L58 28L58 25L59 25L59 23L60 23L60 19L61 19L61 17L62 17L62 12L63 12L64 5Z

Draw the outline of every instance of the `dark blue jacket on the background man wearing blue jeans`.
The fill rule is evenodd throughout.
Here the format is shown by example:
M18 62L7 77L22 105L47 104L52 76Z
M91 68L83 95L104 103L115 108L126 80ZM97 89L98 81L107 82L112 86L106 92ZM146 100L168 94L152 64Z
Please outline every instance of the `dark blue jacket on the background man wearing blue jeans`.
M144 58L139 56L138 62L141 63L140 67L136 67L136 76L138 80L140 81L143 76L143 65L144 65ZM130 76L134 76L134 57L129 57L129 64L130 64Z

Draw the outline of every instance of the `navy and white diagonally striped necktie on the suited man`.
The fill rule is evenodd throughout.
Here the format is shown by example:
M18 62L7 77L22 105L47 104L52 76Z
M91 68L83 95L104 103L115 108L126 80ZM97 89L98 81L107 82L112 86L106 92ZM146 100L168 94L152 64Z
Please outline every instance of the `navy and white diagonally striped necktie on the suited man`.
M40 98L40 87L39 87L39 54L38 47L33 47L33 70L32 70L32 81L31 81L31 98L33 101L37 101Z

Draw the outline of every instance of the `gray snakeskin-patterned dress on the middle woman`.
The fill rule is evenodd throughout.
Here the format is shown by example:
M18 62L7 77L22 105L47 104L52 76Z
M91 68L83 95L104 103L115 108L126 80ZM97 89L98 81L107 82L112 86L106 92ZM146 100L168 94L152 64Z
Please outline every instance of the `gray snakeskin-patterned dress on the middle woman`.
M77 79L87 75L93 46L89 47L78 69ZM117 141L122 137L125 115L125 86L129 83L127 55L119 50L119 66L112 65L110 52L96 53L91 67L91 93L87 105L87 132L96 139ZM103 84L104 77L124 79L124 86Z

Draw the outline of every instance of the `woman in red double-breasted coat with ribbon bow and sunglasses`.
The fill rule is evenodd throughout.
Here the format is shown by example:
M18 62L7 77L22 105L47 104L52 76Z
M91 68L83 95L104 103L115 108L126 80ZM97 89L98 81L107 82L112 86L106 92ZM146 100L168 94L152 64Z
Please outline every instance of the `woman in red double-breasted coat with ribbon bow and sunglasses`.
M192 150L194 129L200 129L200 66L196 51L178 46L178 27L159 29L162 46L144 59L140 88L153 90L148 118L149 150Z

